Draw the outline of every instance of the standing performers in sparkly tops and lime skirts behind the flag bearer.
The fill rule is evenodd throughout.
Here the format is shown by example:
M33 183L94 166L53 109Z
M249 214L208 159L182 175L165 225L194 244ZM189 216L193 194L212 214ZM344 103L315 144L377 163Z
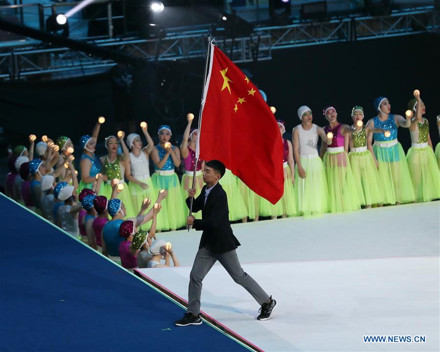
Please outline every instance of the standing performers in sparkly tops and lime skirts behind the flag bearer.
M406 113L405 117L392 114L391 104L385 97L377 98L374 107L377 116L366 124L361 106L353 107L352 124L341 124L336 109L327 106L323 114L328 125L323 128L313 124L311 109L301 106L298 109L301 124L293 129L292 141L282 140L282 198L272 205L226 170L219 183L228 194L230 220L246 222L248 219L256 221L260 216L309 216L440 199L440 144L434 154L428 120L423 117L425 105L419 91L414 92L414 99L408 104L411 113ZM141 130L147 146L143 146L139 134L131 133L125 139L125 133L118 131L116 136L105 138L107 154L98 158L95 146L100 126L105 121L99 118L92 134L82 136L79 141L81 179L77 186L71 140L61 136L53 142L43 136L42 142L34 145L36 136L31 135L29 150L23 145L13 150L9 160L11 172L5 182L6 193L42 216L53 219L55 224L64 221L69 227L71 220L67 221L64 215L58 219L58 208L49 208L60 207L58 203L66 205L64 199L57 199L59 194L55 190L60 184L64 185L62 188L68 185L69 192L74 189L67 198L81 194L83 189L93 189L96 196L104 196L106 200L112 199L113 194L120 200L126 218L136 218L144 199L154 198L160 190L166 190L155 227L157 231L183 228L187 216L185 199L188 189L192 188L194 170L196 197L203 186L204 162L199 160L196 165L198 131L192 128L193 118L188 114L180 147L170 143L172 131L168 125L159 127L159 144L154 145L147 124L143 122ZM282 120L277 123L283 135L285 123ZM440 117L437 124L440 133ZM397 141L398 127L410 130L412 146L406 155ZM320 151L319 138L322 140ZM118 149L122 153L118 153ZM35 153L39 154L38 159L33 157ZM150 158L154 164L153 175L150 175ZM179 181L175 168L180 167L182 161L185 172ZM79 213L74 202L70 203L73 210L66 211ZM153 204L143 210L151 207ZM90 216L99 218L92 208L83 207ZM108 216L107 213L101 215L103 218ZM201 218L200 212L194 216ZM151 225L152 218L142 223L139 229L148 230ZM81 232L81 226L79 228Z

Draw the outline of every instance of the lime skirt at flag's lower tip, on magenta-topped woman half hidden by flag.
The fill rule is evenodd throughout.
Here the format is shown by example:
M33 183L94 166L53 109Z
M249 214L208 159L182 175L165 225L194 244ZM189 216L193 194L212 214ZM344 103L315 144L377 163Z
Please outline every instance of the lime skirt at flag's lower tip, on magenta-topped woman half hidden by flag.
M273 205L268 200L261 198L261 216L298 216L298 205L295 187L293 185L292 171L289 166L284 166L284 192L277 204Z

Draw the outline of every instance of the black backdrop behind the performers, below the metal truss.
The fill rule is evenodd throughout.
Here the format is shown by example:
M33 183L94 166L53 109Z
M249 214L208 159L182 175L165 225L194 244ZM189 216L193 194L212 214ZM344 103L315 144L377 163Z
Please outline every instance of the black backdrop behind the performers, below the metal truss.
M276 117L286 121L285 138L300 123L297 109L303 104L311 107L318 125L325 124L322 110L329 104L336 107L341 123L351 124L352 106L362 105L369 119L375 115L373 100L379 95L389 98L392 113L404 115L417 88L426 104L433 144L439 142L440 36L296 47L273 51L272 57L239 67L265 91L268 104L277 107ZM204 60L200 59L140 68L118 66L104 74L75 79L1 82L0 125L11 146L28 145L31 133L38 139L43 134L52 139L67 135L76 145L81 135L92 132L101 115L107 119L99 136L101 145L120 128L126 134L135 128L139 133L140 121L148 122L153 139L161 124L171 125L173 142L180 142L186 113L197 116L200 107L203 70ZM131 83L121 79L127 76ZM128 120L133 120L131 127ZM409 131L399 128L399 141L406 151L411 145Z

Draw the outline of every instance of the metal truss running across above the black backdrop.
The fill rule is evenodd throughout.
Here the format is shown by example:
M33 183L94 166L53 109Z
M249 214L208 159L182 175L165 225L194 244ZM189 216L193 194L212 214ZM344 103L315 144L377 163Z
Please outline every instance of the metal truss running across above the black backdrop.
M433 6L400 11L379 17L348 17L323 22L300 22L285 26L258 27L251 37L221 39L216 45L234 62L270 60L272 50L331 42L359 41L439 31L439 18ZM221 32L219 32L221 33ZM57 72L84 74L116 65L69 48L54 48L46 43L0 47L0 78L23 79L35 75L51 78ZM186 60L204 57L207 30L173 33L162 39L100 40L96 45L121 50L146 61Z

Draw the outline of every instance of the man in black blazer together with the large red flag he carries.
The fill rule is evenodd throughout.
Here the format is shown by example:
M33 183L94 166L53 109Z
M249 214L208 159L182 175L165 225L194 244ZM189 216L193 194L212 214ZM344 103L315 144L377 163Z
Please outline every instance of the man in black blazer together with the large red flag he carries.
M240 138L235 137L238 133ZM202 219L188 216L186 224L203 233L190 273L187 312L174 324L202 324L202 281L217 260L261 305L257 319L267 320L277 302L241 268L235 251L240 243L232 233L227 195L218 181L226 165L255 193L276 204L284 183L281 135L272 111L254 84L212 43L197 142L196 158L200 153L210 161L203 174L206 186L196 199L195 190L189 189L186 199L191 211L202 210Z

